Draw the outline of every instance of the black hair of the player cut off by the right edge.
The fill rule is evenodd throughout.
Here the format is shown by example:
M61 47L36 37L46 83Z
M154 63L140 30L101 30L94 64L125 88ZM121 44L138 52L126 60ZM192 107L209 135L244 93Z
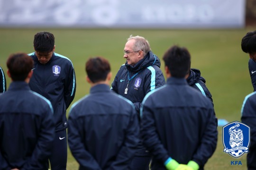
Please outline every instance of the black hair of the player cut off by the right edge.
M248 32L241 42L242 50L246 53L255 53L256 52L256 31Z

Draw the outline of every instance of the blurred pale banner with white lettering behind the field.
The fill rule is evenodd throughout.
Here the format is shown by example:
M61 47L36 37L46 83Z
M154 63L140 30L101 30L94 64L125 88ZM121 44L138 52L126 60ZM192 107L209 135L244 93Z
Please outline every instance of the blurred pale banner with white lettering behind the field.
M246 0L0 0L0 27L240 28Z

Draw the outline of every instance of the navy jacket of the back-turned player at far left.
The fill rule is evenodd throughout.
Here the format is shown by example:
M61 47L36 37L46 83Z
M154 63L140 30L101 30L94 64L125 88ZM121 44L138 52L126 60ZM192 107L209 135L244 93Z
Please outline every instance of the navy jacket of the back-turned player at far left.
M0 95L0 170L48 170L54 136L50 101L12 82Z

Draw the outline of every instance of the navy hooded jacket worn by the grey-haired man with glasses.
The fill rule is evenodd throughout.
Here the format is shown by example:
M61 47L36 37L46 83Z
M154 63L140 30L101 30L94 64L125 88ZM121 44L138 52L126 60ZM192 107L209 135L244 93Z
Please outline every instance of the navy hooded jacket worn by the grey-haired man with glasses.
M160 69L160 60L151 51L136 65L121 66L112 83L112 90L127 98L139 109L146 93L165 85L165 77ZM128 87L127 94L125 89Z

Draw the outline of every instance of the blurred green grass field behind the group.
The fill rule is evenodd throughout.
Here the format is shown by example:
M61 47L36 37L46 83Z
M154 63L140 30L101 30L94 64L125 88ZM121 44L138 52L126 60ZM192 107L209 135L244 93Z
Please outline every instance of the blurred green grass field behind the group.
M6 59L14 52L33 52L34 35L49 31L55 35L55 52L72 60L77 89L74 101L89 93L85 81L84 65L89 57L109 59L114 79L119 67L125 63L123 48L130 34L144 36L152 51L162 60L164 52L172 45L185 46L192 56L192 68L201 70L206 79L218 119L240 121L241 106L245 96L253 92L248 73L249 56L241 50L241 38L254 27L222 30L168 30L168 29L0 29L0 66L6 73ZM10 79L7 78L9 86ZM246 155L240 158L223 153L222 128L218 145L207 162L206 170L246 170ZM231 166L230 161L242 165ZM68 153L67 170L77 170L78 164Z

